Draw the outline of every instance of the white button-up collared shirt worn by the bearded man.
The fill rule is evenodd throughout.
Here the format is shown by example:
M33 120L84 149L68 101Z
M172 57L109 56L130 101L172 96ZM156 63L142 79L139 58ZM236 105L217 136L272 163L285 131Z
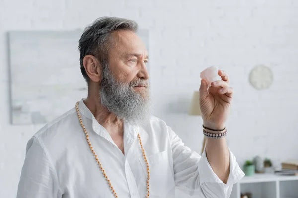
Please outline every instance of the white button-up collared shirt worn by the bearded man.
M74 104L75 105L75 104ZM175 187L196 198L228 198L244 173L230 152L224 184L202 156L184 146L162 120L124 124L125 155L81 100L79 110L92 146L119 198L145 198L149 162L149 198L175 198ZM29 141L17 198L114 198L90 151L75 108L40 129Z

